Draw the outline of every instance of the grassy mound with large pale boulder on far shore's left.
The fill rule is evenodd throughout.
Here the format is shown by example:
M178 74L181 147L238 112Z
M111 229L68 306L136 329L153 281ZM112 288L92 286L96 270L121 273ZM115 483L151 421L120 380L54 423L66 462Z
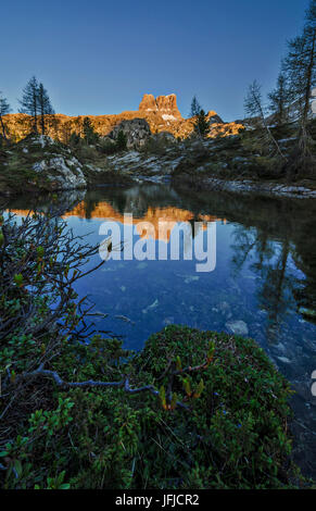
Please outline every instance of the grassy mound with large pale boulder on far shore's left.
M123 149L113 142L114 151ZM65 146L45 135L29 135L0 149L0 195L80 189L99 184L131 183L104 158L102 142L85 139Z

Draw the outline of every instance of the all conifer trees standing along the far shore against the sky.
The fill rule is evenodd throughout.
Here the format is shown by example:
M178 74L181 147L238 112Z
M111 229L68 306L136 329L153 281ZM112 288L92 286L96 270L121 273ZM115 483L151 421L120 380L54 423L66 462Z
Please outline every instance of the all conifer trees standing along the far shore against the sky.
M262 86L254 80L248 89L244 100L245 120L255 136L249 140L249 148L258 152L276 170L291 176L300 173L316 173L313 154L314 140L311 134L311 91L316 83L316 0L309 1L301 35L288 41L288 52L281 61L280 72L274 90L268 94L268 104L262 97ZM28 114L28 130L31 134L42 134L54 125L54 110L47 89L33 76L23 89L20 99L20 113ZM9 134L3 116L11 112L10 104L0 92L0 130L2 138L8 140ZM204 138L211 130L207 114L194 96L191 103L190 116L195 117L194 132ZM293 134L292 151L286 154L278 141L278 135ZM93 130L88 117L81 126L87 144L94 144L98 134ZM75 137L75 134L71 134Z

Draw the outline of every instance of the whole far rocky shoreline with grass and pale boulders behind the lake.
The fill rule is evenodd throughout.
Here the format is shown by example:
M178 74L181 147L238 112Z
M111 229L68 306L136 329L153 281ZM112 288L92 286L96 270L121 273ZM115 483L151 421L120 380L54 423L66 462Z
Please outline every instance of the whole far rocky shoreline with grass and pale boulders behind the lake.
M238 136L176 141L170 134L151 135L144 147L115 154L99 154L92 146L77 154L50 137L29 137L2 153L0 195L172 182L198 190L316 198L315 182L290 183L273 175L255 177L255 158L244 152Z

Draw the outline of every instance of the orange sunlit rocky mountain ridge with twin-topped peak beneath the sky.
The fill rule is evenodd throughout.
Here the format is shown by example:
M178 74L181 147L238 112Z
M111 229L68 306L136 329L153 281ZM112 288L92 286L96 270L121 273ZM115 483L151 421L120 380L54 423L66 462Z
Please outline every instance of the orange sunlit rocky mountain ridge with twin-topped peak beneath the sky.
M101 136L109 135L112 129L122 121L132 119L144 119L153 134L161 132L172 133L175 137L186 138L192 133L194 117L184 119L177 107L176 95L159 96L146 94L136 111L125 111L112 115L78 115L68 116L55 114L51 120L47 135L52 138L67 142L73 132L80 134L85 117L89 117L91 123ZM210 136L218 134L235 135L242 127L240 123L225 123L216 112L210 111L207 117L212 124ZM16 140L24 138L29 132L29 116L26 114L14 113L4 115L4 122L11 136Z

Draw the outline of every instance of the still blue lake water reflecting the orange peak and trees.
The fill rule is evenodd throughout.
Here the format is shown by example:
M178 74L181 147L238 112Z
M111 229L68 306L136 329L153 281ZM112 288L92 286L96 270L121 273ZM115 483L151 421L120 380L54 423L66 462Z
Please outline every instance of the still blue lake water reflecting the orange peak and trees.
M109 260L76 289L89 295L98 312L109 314L97 317L96 328L122 336L136 350L170 323L226 332L236 325L247 328L296 391L295 458L316 477L316 398L311 391L316 324L299 312L300 307L316 310L316 204L149 184L71 196L75 204L64 217L75 234L88 234L91 244L104 239L99 234L104 221L113 219L122 230L125 213L132 214L134 244L148 239L156 253L160 247L169 250L181 222L187 234L192 232L193 253L201 241L206 250L208 240L213 257L216 252L211 272L197 272L194 258L184 260L190 246L184 236L179 260L124 260L125 251L116 251L121 260ZM10 205L17 213L33 207L28 198ZM159 230L162 220L170 232ZM151 235L141 233L139 222L150 222ZM192 228L194 222L200 230ZM99 262L97 256L89 266Z

